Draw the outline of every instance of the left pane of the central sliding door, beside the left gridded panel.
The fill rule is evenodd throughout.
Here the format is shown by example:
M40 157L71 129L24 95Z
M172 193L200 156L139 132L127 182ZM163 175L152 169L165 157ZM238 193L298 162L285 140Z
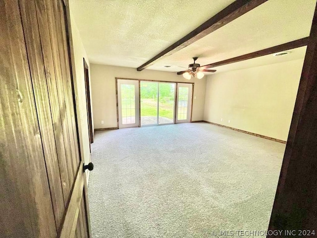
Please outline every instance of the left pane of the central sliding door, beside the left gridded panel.
M158 124L158 82L140 82L141 126Z

